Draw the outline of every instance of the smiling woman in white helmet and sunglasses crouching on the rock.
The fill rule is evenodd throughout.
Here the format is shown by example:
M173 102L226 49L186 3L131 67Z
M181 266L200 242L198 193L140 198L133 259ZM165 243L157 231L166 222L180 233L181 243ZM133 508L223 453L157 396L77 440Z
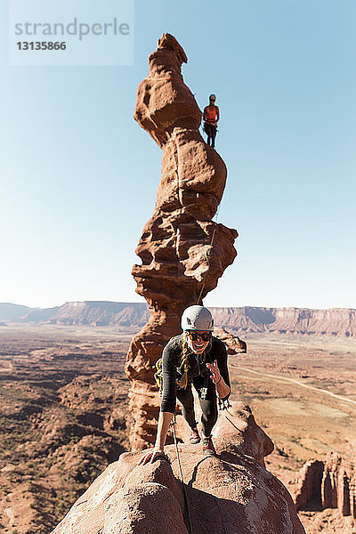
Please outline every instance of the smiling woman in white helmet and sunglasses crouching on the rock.
M190 306L183 312L183 333L173 337L163 351L163 398L156 444L142 456L139 465L164 456L176 399L182 403L182 415L190 425L190 443L200 441L191 384L198 392L202 410L203 452L209 456L216 454L211 436L217 420L216 394L226 401L231 388L226 347L212 335L213 329L214 319L206 307Z

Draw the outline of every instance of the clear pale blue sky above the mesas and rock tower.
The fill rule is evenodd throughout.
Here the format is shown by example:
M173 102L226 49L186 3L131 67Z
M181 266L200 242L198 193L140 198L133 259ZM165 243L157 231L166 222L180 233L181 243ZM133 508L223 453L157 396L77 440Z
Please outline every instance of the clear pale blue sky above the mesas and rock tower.
M167 31L200 108L217 95L240 235L206 304L356 307L354 0L136 0L133 67L9 67L0 20L0 302L142 301L161 150L133 112Z

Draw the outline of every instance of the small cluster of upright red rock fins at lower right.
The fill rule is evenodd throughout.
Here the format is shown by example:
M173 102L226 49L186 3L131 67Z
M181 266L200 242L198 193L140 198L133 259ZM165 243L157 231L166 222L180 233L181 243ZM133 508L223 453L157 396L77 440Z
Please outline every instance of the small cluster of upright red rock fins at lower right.
M356 518L355 465L334 452L324 462L307 462L300 473L295 504L298 510L337 508L341 515Z

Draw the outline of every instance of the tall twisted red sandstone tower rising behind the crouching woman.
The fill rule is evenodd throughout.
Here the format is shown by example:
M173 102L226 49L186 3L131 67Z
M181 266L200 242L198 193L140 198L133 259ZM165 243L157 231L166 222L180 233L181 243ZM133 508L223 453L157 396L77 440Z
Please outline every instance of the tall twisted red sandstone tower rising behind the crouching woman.
M164 34L150 54L150 73L139 85L134 118L163 150L157 202L136 249L136 292L150 306L150 320L127 354L131 380L133 449L155 439L158 394L154 364L171 336L181 332L182 311L214 289L236 251L238 233L214 223L223 196L226 167L198 132L201 111L183 83L187 61L174 36Z

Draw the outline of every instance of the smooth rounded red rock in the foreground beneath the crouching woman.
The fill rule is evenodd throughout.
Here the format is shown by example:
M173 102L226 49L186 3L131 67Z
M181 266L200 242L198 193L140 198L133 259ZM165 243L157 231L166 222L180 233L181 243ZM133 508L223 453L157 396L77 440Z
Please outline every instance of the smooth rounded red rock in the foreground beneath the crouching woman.
M305 534L292 498L265 470L271 440L242 404L215 427L217 457L201 444L179 445L194 534ZM174 445L171 465L158 459L136 466L141 453L122 454L78 498L53 534L188 533Z

